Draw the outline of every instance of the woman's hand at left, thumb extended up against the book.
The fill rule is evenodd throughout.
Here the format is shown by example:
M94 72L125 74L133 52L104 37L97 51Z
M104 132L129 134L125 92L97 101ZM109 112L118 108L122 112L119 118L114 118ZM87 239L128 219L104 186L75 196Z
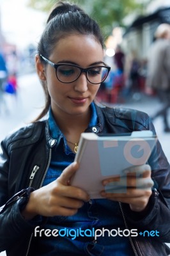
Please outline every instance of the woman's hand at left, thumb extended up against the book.
M76 214L89 196L82 189L70 186L72 175L79 168L78 163L72 163L63 170L58 179L47 186L33 191L29 201L22 211L26 220L31 220L36 215L42 216L72 216Z

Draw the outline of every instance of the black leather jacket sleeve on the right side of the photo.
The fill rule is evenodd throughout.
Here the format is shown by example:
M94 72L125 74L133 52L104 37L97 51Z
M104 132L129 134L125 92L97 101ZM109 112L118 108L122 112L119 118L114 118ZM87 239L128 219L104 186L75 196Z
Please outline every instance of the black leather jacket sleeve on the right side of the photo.
M155 133L150 118L147 122L148 129ZM170 166L159 141L148 164L151 166L151 177L155 184L148 206L143 212L133 212L127 204L123 204L123 209L132 227L139 230L157 230L159 241L170 243Z

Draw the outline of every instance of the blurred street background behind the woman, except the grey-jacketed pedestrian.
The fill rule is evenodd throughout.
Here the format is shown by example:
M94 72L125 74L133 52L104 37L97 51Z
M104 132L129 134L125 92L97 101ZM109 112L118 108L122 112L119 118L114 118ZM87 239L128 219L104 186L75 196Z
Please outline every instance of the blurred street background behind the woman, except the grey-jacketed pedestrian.
M98 102L153 115L162 102L146 86L148 57L158 25L170 24L170 1L75 2L98 21L105 36L105 62L111 66L111 73L100 86ZM43 107L43 91L34 61L38 40L54 3L0 0L0 141L13 129L31 122ZM168 118L170 124L170 113ZM164 132L162 117L153 120L153 124L170 162L170 134Z

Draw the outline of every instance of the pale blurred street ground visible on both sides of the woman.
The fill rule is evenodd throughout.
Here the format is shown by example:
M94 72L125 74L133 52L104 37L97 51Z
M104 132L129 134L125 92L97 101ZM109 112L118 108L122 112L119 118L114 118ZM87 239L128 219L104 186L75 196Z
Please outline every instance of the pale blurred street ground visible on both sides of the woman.
M20 76L18 79L19 91L17 97L6 95L6 104L0 104L0 141L3 140L13 129L18 129L22 125L26 125L40 113L43 104L44 96L40 82L35 73ZM116 104L126 108L139 109L152 115L159 108L160 102L157 98L144 96L140 100L128 100L125 104ZM169 113L170 123L170 113ZM170 162L170 133L163 132L162 119L157 118L154 122L157 131L158 140L162 145L164 153ZM0 253L0 256L5 253Z

